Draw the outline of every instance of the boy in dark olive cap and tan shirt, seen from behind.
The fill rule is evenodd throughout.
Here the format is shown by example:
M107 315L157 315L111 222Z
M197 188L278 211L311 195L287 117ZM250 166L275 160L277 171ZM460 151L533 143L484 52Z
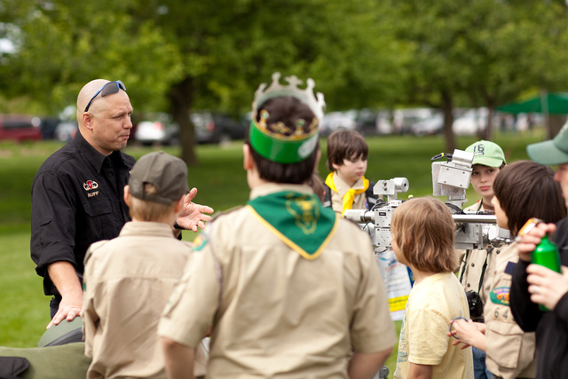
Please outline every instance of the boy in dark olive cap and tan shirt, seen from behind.
M85 355L92 358L88 378L166 377L156 331L191 251L171 228L188 191L185 162L163 152L144 155L124 186L132 221L118 237L88 249L83 278ZM203 375L201 356L200 362Z

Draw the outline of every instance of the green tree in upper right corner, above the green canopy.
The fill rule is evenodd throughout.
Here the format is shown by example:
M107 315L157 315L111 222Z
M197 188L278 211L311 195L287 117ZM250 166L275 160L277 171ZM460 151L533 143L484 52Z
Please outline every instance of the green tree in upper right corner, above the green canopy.
M391 9L401 20L398 38L414 48L406 102L444 111L448 151L455 147L454 107L493 110L527 88L566 82L565 4L402 0ZM482 137L491 138L491 129Z

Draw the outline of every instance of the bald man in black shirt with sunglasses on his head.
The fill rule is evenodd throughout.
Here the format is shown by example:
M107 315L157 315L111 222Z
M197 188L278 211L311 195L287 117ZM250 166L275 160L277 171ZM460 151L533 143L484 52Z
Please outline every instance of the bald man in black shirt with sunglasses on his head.
M83 258L91 243L118 236L127 221L123 188L134 158L121 152L130 138L132 106L121 81L85 84L77 97L79 130L52 154L32 185L30 251L43 292L53 296L51 325L73 320L83 306ZM177 227L197 231L213 209L185 197ZM173 229L178 236L179 230Z

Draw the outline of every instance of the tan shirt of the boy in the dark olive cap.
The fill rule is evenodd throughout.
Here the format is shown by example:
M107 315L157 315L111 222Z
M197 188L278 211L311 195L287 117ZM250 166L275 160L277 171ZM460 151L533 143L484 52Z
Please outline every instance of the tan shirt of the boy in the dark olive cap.
M156 330L190 251L169 225L153 222L129 222L114 240L91 245L83 281L87 378L166 377Z

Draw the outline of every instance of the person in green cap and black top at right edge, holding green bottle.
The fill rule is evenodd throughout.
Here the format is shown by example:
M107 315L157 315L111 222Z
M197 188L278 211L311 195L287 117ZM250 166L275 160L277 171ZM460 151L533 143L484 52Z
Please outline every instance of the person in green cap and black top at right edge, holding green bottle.
M560 183L568 205L568 123L555 138L526 146L537 163L557 165L555 180ZM560 253L562 273L531 265L531 253L545 233L552 234ZM525 332L536 332L536 378L568 377L568 218L554 224L540 224L518 237L519 261L513 269L510 307ZM549 312L543 312L539 304Z

